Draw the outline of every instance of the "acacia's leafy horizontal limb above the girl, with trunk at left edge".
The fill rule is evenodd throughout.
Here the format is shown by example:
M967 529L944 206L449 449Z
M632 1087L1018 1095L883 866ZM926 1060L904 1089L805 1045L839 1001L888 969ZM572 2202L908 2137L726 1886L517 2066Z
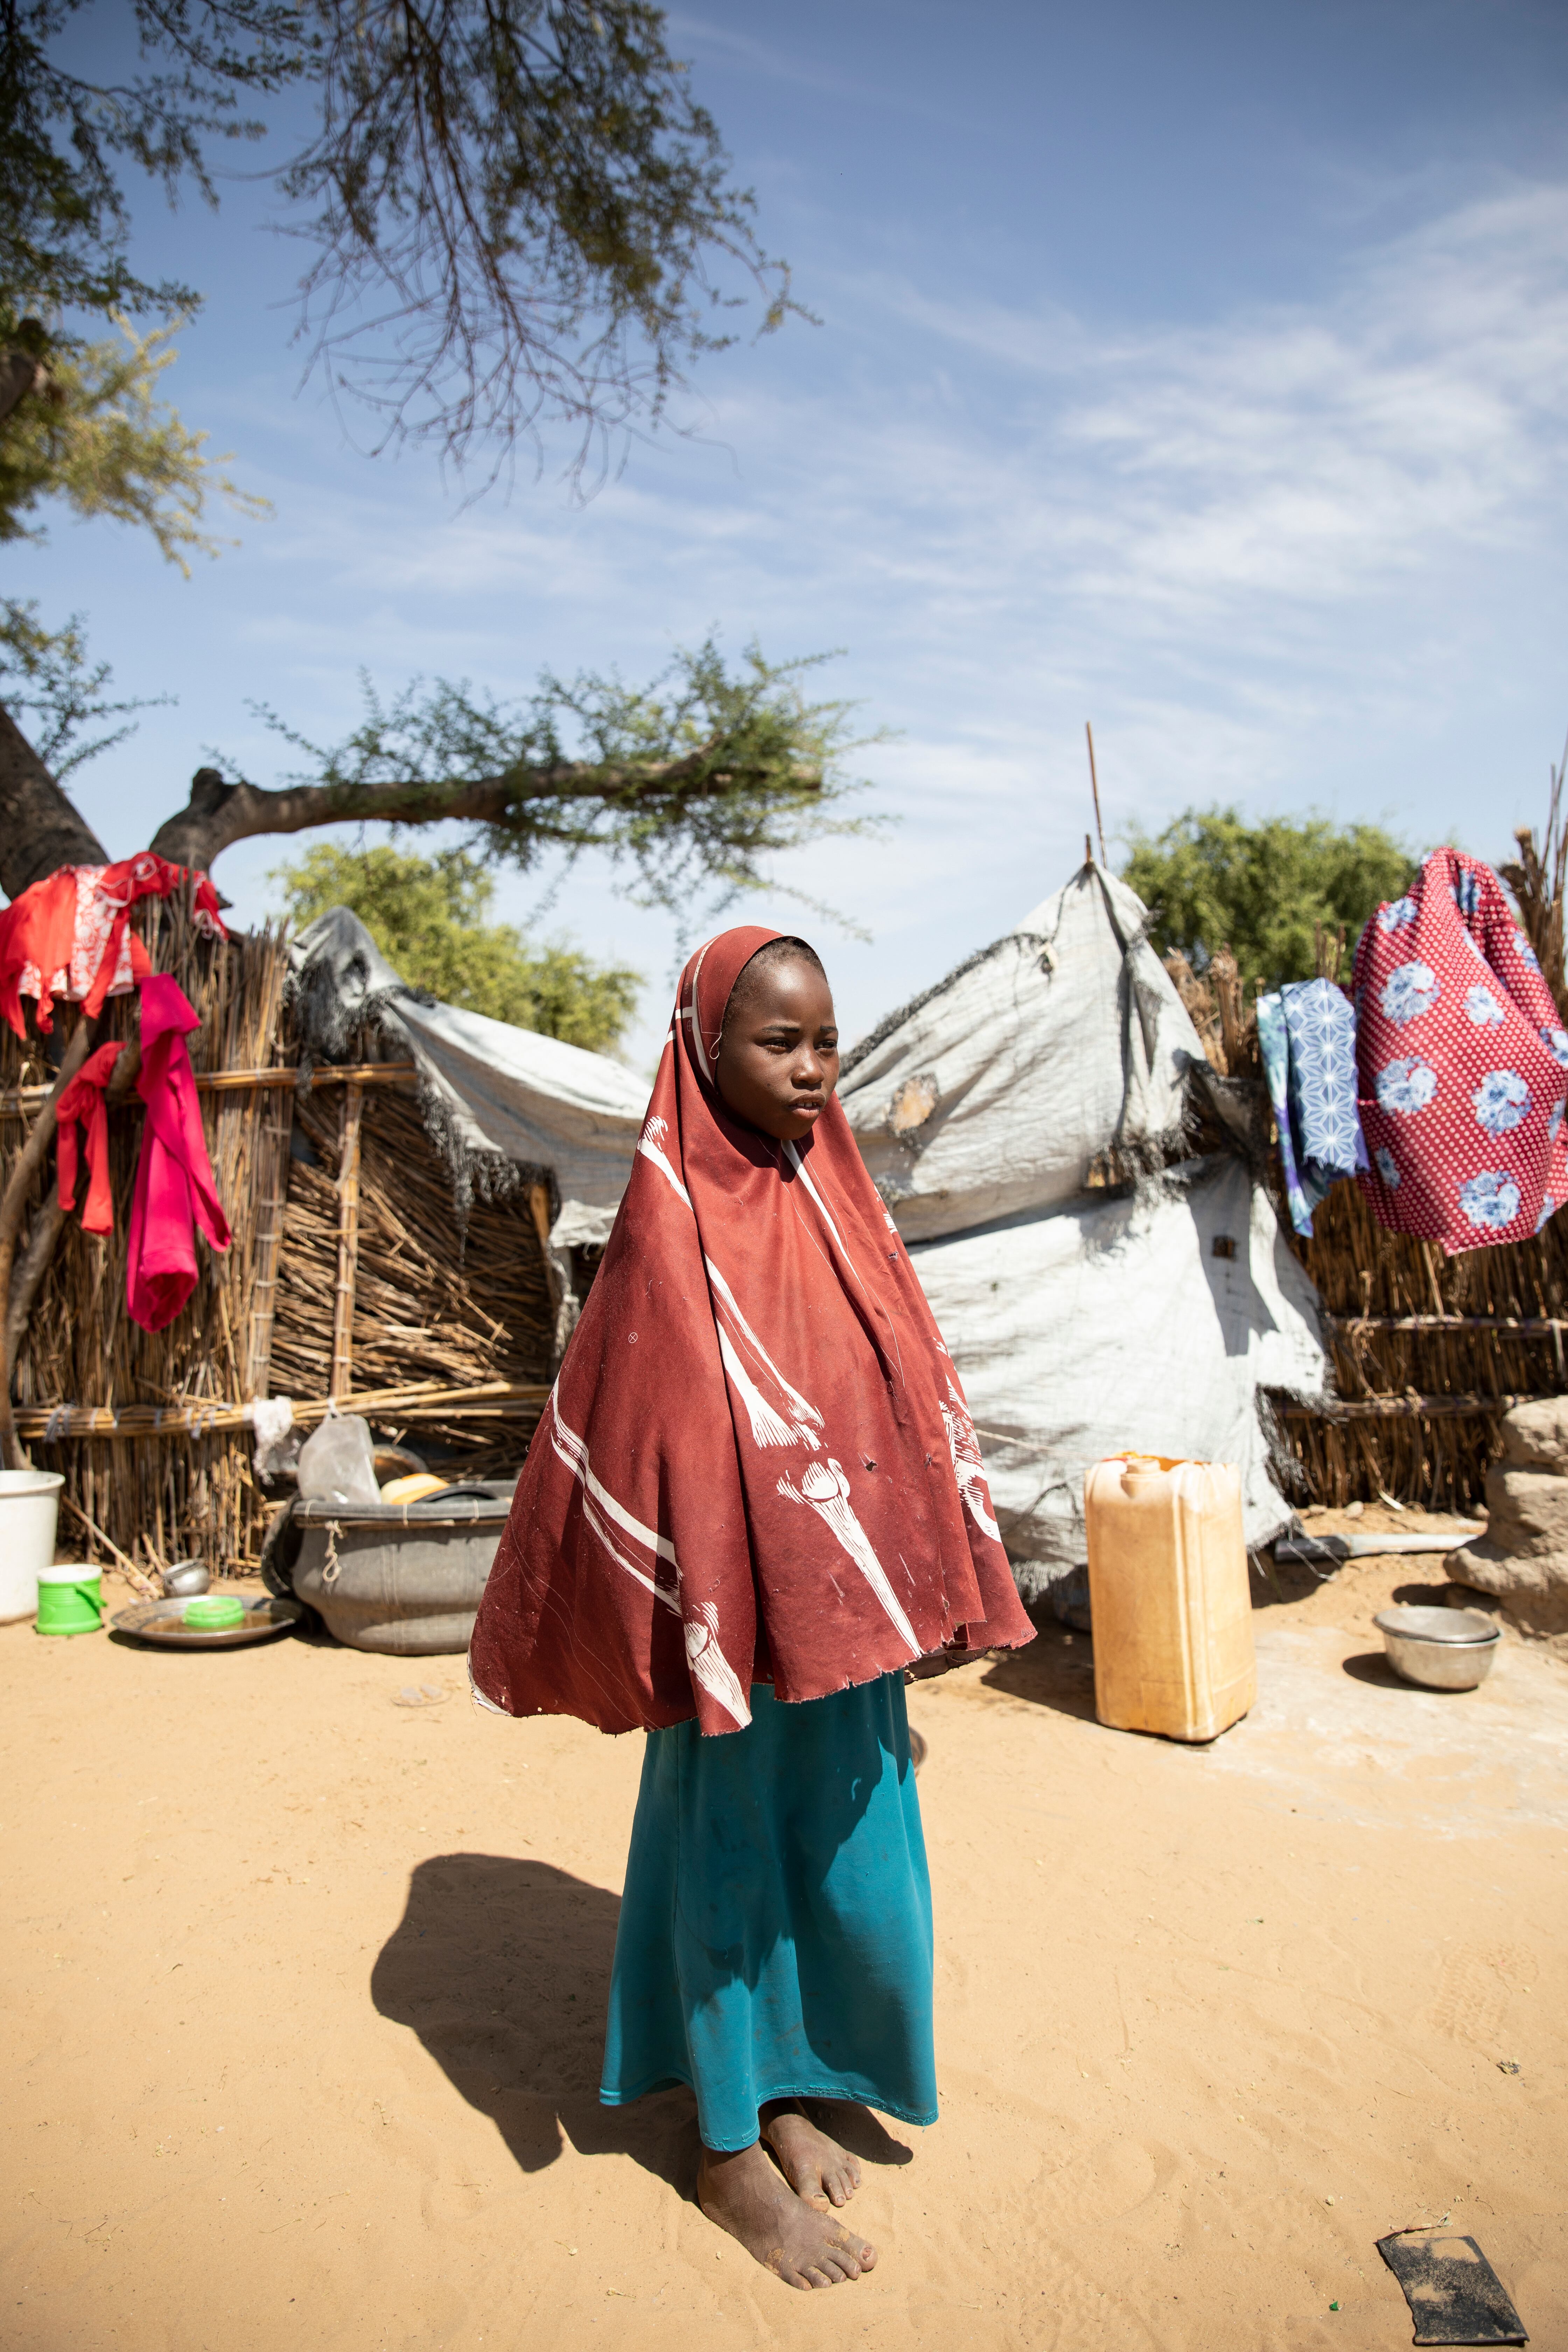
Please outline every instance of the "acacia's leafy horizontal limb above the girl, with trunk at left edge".
M837 811L849 706L811 701L811 661L773 666L752 647L731 670L710 640L651 687L545 675L508 706L468 684L414 682L393 703L364 684L364 717L336 746L273 724L303 757L263 788L202 767L186 807L148 842L209 868L233 842L320 826L458 823L473 856L529 868L543 854L604 851L642 903L689 915L762 880L762 861L867 821ZM96 673L101 677L101 673ZM125 706L82 701L80 720ZM263 713L270 717L270 713ZM9 713L0 710L0 889L16 896L106 849Z

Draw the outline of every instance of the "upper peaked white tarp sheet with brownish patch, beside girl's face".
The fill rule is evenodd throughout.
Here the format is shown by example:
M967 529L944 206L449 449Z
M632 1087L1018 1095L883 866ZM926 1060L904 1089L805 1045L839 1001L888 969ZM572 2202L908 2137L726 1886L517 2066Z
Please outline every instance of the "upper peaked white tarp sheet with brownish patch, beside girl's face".
M907 1242L1072 1200L1112 1145L1168 1157L1208 1063L1145 929L1084 866L846 1056L839 1098Z

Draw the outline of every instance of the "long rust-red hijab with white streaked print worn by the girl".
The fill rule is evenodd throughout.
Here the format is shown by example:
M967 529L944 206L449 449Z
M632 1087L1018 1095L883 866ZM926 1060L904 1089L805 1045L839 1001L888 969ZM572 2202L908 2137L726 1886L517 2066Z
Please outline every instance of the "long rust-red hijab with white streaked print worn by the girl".
M473 1635L482 1698L602 1731L736 1731L1032 1639L957 1371L835 1098L804 1143L724 1105L731 988L682 974L632 1178Z

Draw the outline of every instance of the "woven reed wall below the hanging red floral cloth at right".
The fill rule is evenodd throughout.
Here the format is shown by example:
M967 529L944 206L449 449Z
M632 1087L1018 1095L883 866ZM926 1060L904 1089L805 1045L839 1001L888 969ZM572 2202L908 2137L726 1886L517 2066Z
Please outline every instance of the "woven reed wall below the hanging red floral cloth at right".
M1568 1230L1554 1216L1533 1242L1467 1249L1385 1232L1352 1181L1293 1247L1324 1298L1324 1338L1342 1418L1274 1397L1298 1503L1392 1494L1429 1510L1481 1512L1502 1451L1502 1414L1568 1390ZM1288 1218L1281 1211L1281 1230ZM1403 1322L1406 1329L1387 1329ZM1537 1329L1507 1329L1507 1324ZM1490 1399L1490 1402L1488 1402Z

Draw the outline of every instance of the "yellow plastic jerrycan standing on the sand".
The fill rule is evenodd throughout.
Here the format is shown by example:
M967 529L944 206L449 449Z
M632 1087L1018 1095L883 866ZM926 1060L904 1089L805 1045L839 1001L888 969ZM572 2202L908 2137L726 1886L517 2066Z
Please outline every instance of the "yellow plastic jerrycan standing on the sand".
M1258 1696L1241 1472L1117 1454L1084 1479L1095 1715L1213 1740Z

